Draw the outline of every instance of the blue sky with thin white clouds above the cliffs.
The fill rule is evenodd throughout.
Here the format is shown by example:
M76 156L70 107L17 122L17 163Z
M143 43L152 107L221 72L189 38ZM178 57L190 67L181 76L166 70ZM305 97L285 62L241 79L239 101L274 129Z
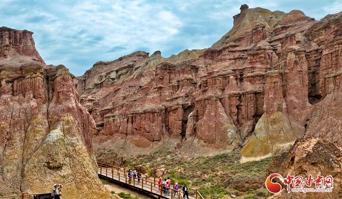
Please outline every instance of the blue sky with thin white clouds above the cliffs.
M245 3L316 20L342 11L342 0L0 0L0 26L34 32L46 64L81 76L97 61L138 50L169 57L208 48Z

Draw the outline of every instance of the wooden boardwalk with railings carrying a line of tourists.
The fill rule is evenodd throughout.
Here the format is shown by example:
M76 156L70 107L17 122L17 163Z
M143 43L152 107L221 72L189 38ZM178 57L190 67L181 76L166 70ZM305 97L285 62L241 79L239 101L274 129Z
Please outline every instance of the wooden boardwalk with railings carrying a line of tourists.
M107 178L111 181L124 184L125 186L145 192L150 195L155 195L158 198L164 199L183 199L182 186L178 191L174 190L174 184L171 184L170 195L163 192L158 185L158 179L142 174L140 181L137 178L128 177L126 169L116 167L114 165L97 162L98 175L101 178ZM189 199L203 199L197 189L188 187Z

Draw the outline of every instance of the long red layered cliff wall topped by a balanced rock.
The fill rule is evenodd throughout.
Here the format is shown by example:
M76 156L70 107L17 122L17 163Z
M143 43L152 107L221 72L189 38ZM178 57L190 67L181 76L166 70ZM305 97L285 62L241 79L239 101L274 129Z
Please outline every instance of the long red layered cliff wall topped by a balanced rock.
M240 10L211 48L170 58L138 51L76 78L97 148L132 154L164 143L211 154L242 146L248 160L305 136L340 143L341 108L328 104L341 104L342 14L317 21L299 10Z

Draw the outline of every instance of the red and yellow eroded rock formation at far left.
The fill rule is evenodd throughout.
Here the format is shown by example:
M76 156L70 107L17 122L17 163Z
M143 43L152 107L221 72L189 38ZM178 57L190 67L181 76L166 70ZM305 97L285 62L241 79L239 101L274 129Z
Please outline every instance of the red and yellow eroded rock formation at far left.
M2 44L10 41L0 50L0 189L42 193L63 183L66 199L109 198L97 177L95 123L73 76L43 64L31 32L1 31Z

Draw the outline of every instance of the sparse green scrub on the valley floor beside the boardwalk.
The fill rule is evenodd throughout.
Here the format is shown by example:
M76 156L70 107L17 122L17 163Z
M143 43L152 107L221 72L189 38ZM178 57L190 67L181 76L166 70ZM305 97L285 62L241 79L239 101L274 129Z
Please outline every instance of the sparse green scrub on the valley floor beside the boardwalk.
M231 194L246 199L266 197L268 192L265 189L240 192L229 188L230 182L226 180L264 178L272 158L246 163L239 163L239 159L238 151L210 157L187 158L162 147L149 155L139 155L128 159L126 164L130 168L135 162L146 165L150 176L155 176L158 169L164 167L168 175L162 176L163 178L170 177L171 181L177 181L181 185L187 184L199 188L204 198L220 199Z

